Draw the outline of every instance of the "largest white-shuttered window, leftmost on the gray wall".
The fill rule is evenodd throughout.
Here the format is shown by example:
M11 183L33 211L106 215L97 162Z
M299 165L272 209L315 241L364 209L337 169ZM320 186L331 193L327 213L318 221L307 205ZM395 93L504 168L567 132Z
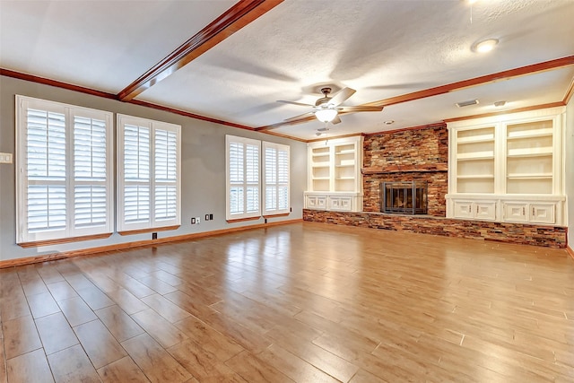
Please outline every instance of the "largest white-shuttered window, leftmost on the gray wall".
M112 113L16 96L16 242L113 231Z

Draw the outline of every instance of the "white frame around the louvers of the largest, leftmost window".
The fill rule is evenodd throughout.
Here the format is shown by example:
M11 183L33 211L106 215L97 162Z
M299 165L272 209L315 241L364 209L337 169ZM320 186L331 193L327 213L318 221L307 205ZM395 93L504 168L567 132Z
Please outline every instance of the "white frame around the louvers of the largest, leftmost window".
M83 236L108 234L113 232L113 113L97 109L87 109L55 101L34 99L16 95L16 243L27 243L53 239L71 239ZM60 180L30 179L28 170L28 109L63 114L65 118L65 177ZM74 177L74 118L94 118L105 123L105 179L76 180ZM65 187L65 225L57 229L30 231L28 222L29 186L46 185ZM76 227L75 187L97 186L105 188L104 222ZM49 201L49 199L48 199Z

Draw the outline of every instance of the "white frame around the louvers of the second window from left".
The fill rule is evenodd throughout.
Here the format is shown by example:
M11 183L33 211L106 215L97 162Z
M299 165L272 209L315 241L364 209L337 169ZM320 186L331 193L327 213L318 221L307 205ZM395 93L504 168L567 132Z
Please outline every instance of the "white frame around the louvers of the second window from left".
M125 179L125 129L126 126L140 126L149 128L149 179L147 181L129 181ZM155 133L156 131L173 132L176 135L176 179L170 181L159 181L155 177ZM126 186L141 185L149 187L149 219L140 222L126 222L125 190ZM175 216L170 219L158 219L156 217L156 186L173 186L176 189L176 211ZM117 115L117 231L137 231L145 229L160 229L170 226L181 225L181 126L162 121L155 121L147 118Z

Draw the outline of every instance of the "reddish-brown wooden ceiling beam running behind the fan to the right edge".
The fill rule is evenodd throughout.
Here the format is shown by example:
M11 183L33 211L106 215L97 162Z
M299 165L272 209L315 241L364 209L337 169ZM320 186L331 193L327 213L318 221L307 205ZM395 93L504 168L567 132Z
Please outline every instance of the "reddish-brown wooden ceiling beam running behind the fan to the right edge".
M561 67L568 65L574 65L574 56L561 57L555 60L544 61L543 63L521 66L515 69L509 69L508 71L502 71L495 74L486 74L469 80L459 81L457 83L448 83L446 85L440 85L435 88L424 89L422 91L413 91L412 93L406 93L400 96L391 97L384 100L369 102L366 104L362 104L361 106L387 107L389 105L396 105L403 102L421 100L427 97L438 96L439 94L448 93L450 91L460 91L465 88L472 88L474 86L483 85L485 83L495 83L498 81L509 80L511 78L516 78L528 74L537 74L545 71L551 71L554 69L560 69ZM571 97L571 90L567 91L566 97L569 96ZM343 115L343 113L339 114ZM282 126L302 124L305 122L312 121L314 118L315 118L314 116L311 116L291 121L282 121L267 126L259 126L256 128L256 130L265 131L265 130L277 129Z

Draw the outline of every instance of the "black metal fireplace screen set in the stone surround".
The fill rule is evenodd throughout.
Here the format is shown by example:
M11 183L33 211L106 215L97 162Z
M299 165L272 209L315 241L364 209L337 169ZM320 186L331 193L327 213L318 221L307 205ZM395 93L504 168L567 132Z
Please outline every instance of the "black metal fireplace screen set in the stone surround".
M383 213L427 213L426 181L382 182L380 196Z

